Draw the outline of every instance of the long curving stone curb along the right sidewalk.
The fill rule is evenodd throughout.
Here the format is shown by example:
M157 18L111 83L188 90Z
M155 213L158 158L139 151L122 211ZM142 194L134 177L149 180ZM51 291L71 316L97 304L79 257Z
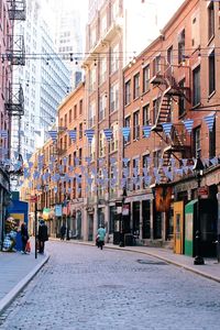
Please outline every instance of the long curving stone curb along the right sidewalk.
M52 239L54 241L56 241L57 239ZM65 241L66 243L73 243L73 244L82 244L82 245L87 245L87 246L95 246L95 243L89 243L89 242L77 242L77 241ZM182 263L178 263L176 261L173 261L170 258L167 258L167 257L164 257L164 256L161 256L156 253L152 253L152 252L147 252L147 251L140 251L140 250L136 250L135 248L134 249L130 249L130 248L119 248L119 246L108 246L108 245L105 245L105 249L112 249L112 250L120 250L120 251L124 251L124 252L135 252L135 253L140 253L140 254L146 254L146 255L150 255L150 256L153 256L153 257L157 257L158 260L162 260L168 264L172 264L172 265L175 265L177 267L180 267L180 268L184 268L186 271L189 271L191 273L195 273L197 275L200 275L202 277L206 277L208 279L211 279L211 280L215 280L215 282L218 282L220 283L220 277L216 277L215 275L210 275L208 273L205 273L205 272L201 272L201 271L198 271L198 270L195 270L188 265L185 265L185 264L182 264Z

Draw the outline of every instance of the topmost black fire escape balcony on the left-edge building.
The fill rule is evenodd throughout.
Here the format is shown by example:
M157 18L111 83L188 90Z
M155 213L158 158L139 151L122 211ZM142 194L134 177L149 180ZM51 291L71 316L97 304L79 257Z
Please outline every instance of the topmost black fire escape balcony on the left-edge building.
M7 0L10 20L25 21L26 1L25 0Z

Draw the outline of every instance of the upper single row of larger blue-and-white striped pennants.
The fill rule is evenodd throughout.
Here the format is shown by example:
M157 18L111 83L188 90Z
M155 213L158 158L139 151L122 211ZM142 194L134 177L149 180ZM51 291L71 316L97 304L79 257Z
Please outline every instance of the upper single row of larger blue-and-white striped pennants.
M204 118L205 123L208 127L208 130L210 132L212 132L213 130L213 124L215 124L215 119L216 119L216 113L206 116ZM194 119L187 119L187 120L183 120L183 124L186 129L186 132L188 134L191 133L193 128L194 128ZM172 122L164 122L161 123L164 133L169 136L172 129L173 129L173 123ZM143 131L143 136L145 139L148 139L152 132L152 128L153 125L143 125L142 127L142 131ZM122 132L122 135L124 138L124 141L129 141L130 134L131 134L131 128L130 127L124 127L120 129ZM76 142L77 139L77 129L75 130L67 130L69 138L72 139L72 141ZM85 135L88 140L88 143L90 144L92 142L92 139L95 136L95 130L94 129L87 129L85 130ZM103 129L103 133L105 133L105 138L108 142L110 142L113 139L113 129ZM48 135L52 138L53 142L56 142L57 138L58 138L58 131L57 130L52 130L48 131Z

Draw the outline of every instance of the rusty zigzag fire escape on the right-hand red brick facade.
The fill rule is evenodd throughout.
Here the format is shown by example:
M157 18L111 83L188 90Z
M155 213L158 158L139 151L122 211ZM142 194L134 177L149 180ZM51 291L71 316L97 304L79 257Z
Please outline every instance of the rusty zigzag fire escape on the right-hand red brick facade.
M186 143L186 133L184 123L180 121L178 123L172 124L170 134L167 136L163 132L163 123L172 122L172 107L173 101L179 98L185 98L189 101L189 88L182 87L177 84L174 77L173 65L164 65L160 73L157 73L152 79L151 84L157 86L160 89L158 107L157 113L155 116L154 125L152 131L155 132L163 142L162 150L162 165L158 169L162 176L162 183L167 183L162 166L170 165L170 156L180 161L180 158L190 157L190 145Z

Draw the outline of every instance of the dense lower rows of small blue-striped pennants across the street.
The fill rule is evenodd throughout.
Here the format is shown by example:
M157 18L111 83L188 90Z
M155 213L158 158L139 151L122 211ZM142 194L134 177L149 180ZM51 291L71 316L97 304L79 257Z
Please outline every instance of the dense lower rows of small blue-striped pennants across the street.
M140 162L135 162L135 166L131 169L130 164L132 163L130 158L124 157L122 160L122 177L118 170L118 163L116 157L110 158L110 169L108 169L107 164L103 158L98 160L99 167L96 168L91 163L90 157L86 157L86 165L77 166L67 166L67 160L65 165L58 165L57 167L54 164L54 158L51 157L51 163L48 164L47 172L44 173L44 156L40 155L37 160L37 168L33 170L33 163L29 162L28 167L23 168L23 179L29 180L30 187L36 187L38 190L42 190L42 186L48 189L51 183L52 186L57 186L58 184L64 184L62 189L67 191L69 183L75 180L76 189L81 190L82 182L86 183L87 191L95 191L96 189L106 189L110 187L114 188L124 188L135 187L140 188L142 185L145 187L150 186L152 183L161 184L164 178L167 182L174 180L175 176L183 177L184 175L193 174L194 172L194 162L188 158L182 158L180 165L175 158L170 158L169 166L164 166L163 160L160 161L160 165L155 167L154 158L146 157L144 166L141 168ZM78 160L79 161L79 160ZM139 160L140 161L140 160ZM79 163L79 162L78 162ZM202 163L205 166L218 165L220 164L220 158L204 158ZM7 164L10 164L10 160L7 160ZM178 165L178 166L177 166ZM21 163L18 163L16 166L22 166ZM67 166L65 168L65 166ZM38 180L41 184L38 184ZM20 182L20 185L23 184L23 180Z

